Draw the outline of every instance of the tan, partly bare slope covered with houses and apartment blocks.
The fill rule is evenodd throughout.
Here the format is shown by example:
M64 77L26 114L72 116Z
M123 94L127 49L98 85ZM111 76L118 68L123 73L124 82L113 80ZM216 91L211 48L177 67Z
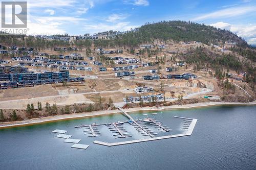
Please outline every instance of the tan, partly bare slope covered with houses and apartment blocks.
M104 54L95 50L88 56L82 49L72 54L45 50L34 57L6 59L5 64L0 67L0 108L6 110L6 116L8 111L18 109L18 114L26 118L24 111L27 105L37 106L38 102L42 107L46 103L63 107L96 104L101 98L102 103L109 103L111 99L113 106L118 108L125 104L136 106L141 98L143 103L151 103L155 99L167 103L179 99L222 101L225 91L220 84L224 80L212 76L214 70L194 69L195 65L185 63L182 56L174 53L185 53L188 48L201 45L202 43L196 42L168 43L157 55L151 57L139 53L131 54L125 50ZM207 47L206 44L203 45ZM152 46L152 49L157 47ZM135 52L143 48L140 47ZM47 57L51 55L58 59ZM79 62L76 61L76 56L80 56ZM65 69L61 69L61 65L66 66ZM77 69L83 67L82 65L89 66L90 69ZM229 72L231 74L232 71ZM253 101L254 92L247 83L231 77L229 81L234 88L240 90L233 90L228 94L231 97L225 97L225 101ZM153 90L136 92L136 88L143 87L151 87Z

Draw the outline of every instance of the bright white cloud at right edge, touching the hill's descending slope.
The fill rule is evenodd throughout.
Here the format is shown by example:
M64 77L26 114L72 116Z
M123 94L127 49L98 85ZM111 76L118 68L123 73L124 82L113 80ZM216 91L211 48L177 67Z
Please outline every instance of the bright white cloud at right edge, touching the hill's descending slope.
M230 30L238 36L244 38L249 44L256 44L256 24L232 25L226 22L212 23L210 26Z

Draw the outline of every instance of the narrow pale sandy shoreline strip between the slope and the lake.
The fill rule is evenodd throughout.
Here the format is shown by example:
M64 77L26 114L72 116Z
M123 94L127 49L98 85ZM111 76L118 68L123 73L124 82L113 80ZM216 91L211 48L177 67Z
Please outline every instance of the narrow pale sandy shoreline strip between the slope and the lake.
M236 103L236 102L207 102L207 103L196 103L196 104L187 104L187 105L173 105L173 106L161 106L161 107L137 107L124 109L128 113L133 112L152 112L152 111L165 111L165 110L179 110L179 109L191 109L191 108L203 108L203 107L211 107L211 106L253 106L256 105L256 102L250 103ZM94 112L86 112L86 113L72 113L72 114L64 114L64 115L56 115L56 116L48 116L42 118L33 118L29 120L17 121L17 122L6 122L0 125L0 129L14 128L14 127L22 127L22 126L32 126L37 124L45 124L51 122L58 122L63 120L72 120L72 119L81 119L86 117L93 116L102 116L102 115L110 115L120 113L120 110L100 110Z

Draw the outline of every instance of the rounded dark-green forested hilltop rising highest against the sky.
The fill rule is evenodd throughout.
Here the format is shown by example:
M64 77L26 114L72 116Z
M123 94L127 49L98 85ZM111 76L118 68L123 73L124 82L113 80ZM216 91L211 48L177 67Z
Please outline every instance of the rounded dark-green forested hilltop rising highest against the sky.
M160 39L164 41L200 41L210 45L211 43L220 44L223 41L233 41L240 47L248 47L246 41L230 31L190 21L161 21L141 26L136 30L138 31L118 35L112 43L137 46Z

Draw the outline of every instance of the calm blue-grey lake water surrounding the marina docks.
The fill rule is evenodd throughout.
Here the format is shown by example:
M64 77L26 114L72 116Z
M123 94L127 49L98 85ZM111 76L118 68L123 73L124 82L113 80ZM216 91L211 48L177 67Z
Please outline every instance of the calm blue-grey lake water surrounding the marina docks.
M133 117L145 118L142 113ZM126 120L121 115L75 119L57 123L0 130L0 169L256 169L256 106L209 107L158 112L155 117L173 131L159 135L183 133L181 119L198 118L191 136L105 147L93 140L115 139L106 127L101 137L87 137L83 124ZM72 149L51 131L68 130L79 143L90 144L87 150ZM141 138L133 127L125 126ZM127 140L127 139L126 139Z

